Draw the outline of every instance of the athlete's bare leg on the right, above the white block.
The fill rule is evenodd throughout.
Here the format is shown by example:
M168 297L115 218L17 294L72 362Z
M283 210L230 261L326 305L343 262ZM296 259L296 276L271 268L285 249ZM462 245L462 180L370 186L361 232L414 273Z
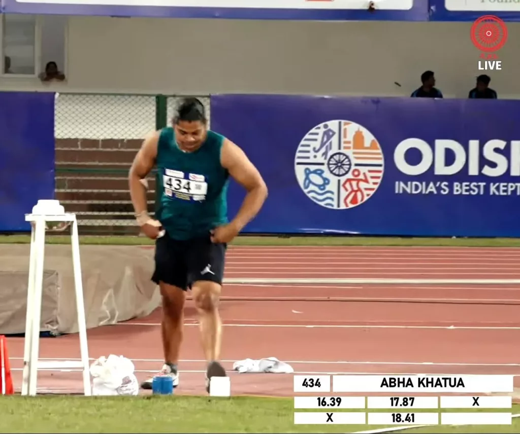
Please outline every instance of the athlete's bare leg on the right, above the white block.
M218 313L220 285L215 282L199 280L191 288L193 301L197 307L200 321L202 348L207 362L220 358L222 323Z

